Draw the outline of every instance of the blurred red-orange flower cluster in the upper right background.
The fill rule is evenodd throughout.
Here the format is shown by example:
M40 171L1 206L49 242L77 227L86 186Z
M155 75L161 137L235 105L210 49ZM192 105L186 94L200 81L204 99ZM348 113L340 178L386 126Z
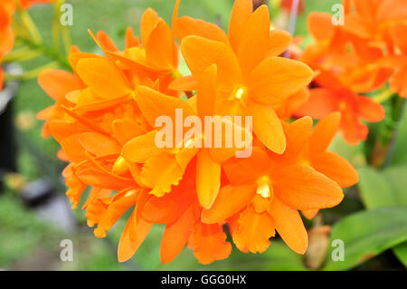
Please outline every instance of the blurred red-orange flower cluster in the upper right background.
M361 93L390 81L393 92L407 97L407 1L344 0L343 8L344 17L336 20L332 14L308 16L314 43L299 59L317 72L318 87L297 114L320 119L340 111L344 139L357 144L368 134L362 120L384 118L383 107Z

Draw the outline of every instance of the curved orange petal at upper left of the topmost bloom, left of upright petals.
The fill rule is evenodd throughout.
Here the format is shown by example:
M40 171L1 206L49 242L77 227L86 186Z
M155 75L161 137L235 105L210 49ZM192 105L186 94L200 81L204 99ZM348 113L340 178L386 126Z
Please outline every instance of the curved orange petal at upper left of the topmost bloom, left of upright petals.
M189 16L183 16L175 20L175 34L180 43L189 35L229 43L228 36L218 25Z

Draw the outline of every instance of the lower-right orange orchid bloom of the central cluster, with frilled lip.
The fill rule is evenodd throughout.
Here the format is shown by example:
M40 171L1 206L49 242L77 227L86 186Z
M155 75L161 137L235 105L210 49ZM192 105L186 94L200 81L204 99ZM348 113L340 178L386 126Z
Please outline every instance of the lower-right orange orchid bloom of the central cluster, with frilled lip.
M277 230L291 249L304 254L308 236L298 210L309 216L334 207L343 198L338 184L357 182L355 169L326 151L338 122L339 114L333 114L311 134L312 120L296 120L285 125L288 147L283 155L255 148L251 158L226 164L231 185L222 188L211 209L204 209L204 223L229 219L233 242L243 252L263 252Z

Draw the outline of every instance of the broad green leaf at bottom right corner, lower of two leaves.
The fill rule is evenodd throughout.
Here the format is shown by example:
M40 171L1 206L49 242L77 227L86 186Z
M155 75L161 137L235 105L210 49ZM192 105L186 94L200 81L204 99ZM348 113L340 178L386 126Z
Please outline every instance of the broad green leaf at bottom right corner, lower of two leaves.
M325 270L347 270L407 241L407 207L381 207L345 217L333 226L331 244L340 239L345 244L344 261L329 256Z

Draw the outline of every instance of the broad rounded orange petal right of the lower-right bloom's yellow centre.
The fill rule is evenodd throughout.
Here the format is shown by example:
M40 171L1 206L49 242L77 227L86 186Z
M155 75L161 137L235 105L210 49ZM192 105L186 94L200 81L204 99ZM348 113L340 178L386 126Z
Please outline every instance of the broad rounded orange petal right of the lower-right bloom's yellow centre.
M334 207L344 197L335 181L305 165L273 171L272 184L279 199L301 210Z

